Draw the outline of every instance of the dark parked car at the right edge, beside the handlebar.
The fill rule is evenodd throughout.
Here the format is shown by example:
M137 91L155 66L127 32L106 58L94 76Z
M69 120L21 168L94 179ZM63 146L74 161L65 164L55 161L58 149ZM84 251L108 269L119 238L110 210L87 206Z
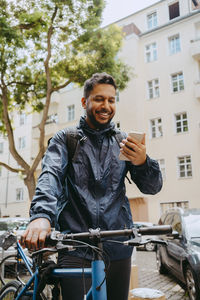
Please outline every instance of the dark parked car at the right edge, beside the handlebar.
M159 272L168 271L188 290L191 300L200 299L200 209L170 209L160 225L171 225L173 232L161 238L167 243L156 251Z

